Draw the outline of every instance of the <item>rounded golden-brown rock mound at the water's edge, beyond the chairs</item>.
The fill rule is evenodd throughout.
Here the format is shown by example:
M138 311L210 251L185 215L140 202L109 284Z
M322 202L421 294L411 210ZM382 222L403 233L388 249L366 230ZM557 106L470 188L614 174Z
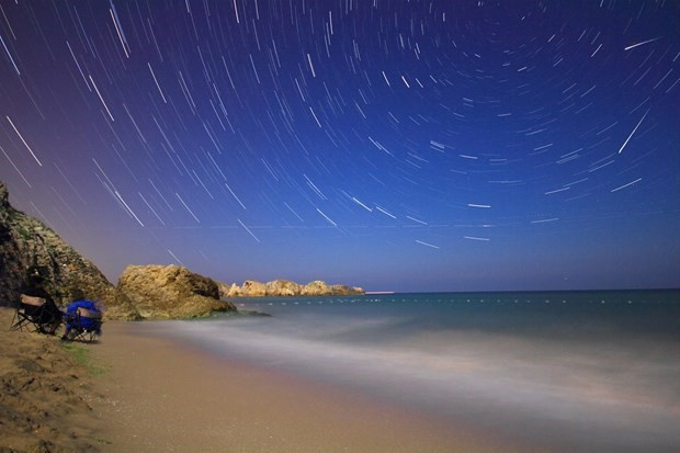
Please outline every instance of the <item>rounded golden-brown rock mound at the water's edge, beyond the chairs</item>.
M191 318L236 310L234 304L219 301L215 281L174 264L128 265L118 278L117 291L144 318Z

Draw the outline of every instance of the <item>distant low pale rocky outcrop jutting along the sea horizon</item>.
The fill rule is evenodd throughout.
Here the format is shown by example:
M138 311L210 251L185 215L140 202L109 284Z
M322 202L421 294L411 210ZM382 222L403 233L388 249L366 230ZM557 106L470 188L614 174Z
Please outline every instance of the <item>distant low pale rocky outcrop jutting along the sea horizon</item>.
M241 286L236 283L226 285L219 283L220 297L277 297L277 296L347 296L353 294L364 294L361 287L347 285L329 285L319 280L301 285L287 280L274 280L268 283L260 283L247 280Z

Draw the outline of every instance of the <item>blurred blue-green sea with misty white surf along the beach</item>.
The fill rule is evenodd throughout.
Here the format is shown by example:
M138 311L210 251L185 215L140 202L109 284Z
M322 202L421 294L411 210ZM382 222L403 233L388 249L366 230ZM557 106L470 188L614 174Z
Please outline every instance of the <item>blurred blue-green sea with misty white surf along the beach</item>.
M548 450L680 451L678 291L236 301L272 316L173 335Z

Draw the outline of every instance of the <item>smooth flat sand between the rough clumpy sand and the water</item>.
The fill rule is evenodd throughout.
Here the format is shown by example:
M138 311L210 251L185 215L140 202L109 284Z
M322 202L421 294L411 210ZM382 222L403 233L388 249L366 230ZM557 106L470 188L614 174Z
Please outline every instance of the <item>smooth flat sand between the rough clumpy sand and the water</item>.
M149 327L110 321L90 348L112 366L97 380L106 395L95 408L106 426L102 451L512 451L434 417L217 356Z

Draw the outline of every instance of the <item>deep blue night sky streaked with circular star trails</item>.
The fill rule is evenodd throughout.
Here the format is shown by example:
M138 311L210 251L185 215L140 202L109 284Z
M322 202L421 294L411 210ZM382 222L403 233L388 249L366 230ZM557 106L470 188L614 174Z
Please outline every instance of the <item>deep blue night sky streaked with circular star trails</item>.
M114 283L679 287L679 9L0 0L0 180Z

